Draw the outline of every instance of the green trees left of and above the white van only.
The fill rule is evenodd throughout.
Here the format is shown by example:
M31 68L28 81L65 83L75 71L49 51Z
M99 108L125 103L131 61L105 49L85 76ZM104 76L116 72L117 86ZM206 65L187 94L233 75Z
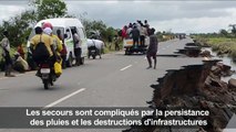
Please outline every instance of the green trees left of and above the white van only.
M37 6L39 0L32 3L34 10L27 10L21 14L17 14L9 21L3 21L0 31L9 32L9 41L11 46L16 47L21 43L25 43L25 37L30 35L32 26L42 19L59 18L66 14L66 4L61 0L43 0L41 6Z

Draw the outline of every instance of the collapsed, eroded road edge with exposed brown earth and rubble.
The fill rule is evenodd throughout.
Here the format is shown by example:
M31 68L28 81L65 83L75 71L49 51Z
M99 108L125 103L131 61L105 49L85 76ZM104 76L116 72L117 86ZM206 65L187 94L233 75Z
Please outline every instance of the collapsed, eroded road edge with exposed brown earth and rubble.
M156 110L193 109L207 110L207 117L178 116L172 119L181 120L206 120L207 125L173 127L173 125L145 125L131 127L125 132L172 132L172 131L209 131L220 132L225 129L236 113L236 86L235 80L228 82L222 77L230 76L234 72L230 66L220 63L220 59L211 58L207 51L201 51L195 43L187 43L183 50L176 52L178 55L170 57L203 57L203 62L193 65L183 65L179 69L166 70L164 77L157 79L157 84L151 85L153 90L148 107ZM167 120L162 116L144 117L146 119ZM233 129L233 128L230 128Z

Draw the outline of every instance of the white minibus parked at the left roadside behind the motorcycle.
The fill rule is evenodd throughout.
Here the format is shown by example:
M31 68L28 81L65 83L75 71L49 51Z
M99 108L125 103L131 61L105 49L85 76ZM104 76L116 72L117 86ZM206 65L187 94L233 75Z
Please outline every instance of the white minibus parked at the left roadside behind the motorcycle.
M71 30L74 29L76 30L78 35L81 38L81 64L84 64L84 57L88 55L88 46L86 46L86 35L84 31L84 26L78 19L71 19L71 18L58 18L58 19L47 19L47 20L41 20L35 24L34 28L37 26L42 26L44 22L49 22L53 26L53 34L57 34L57 31L60 30L61 33L64 34L64 45L66 47L68 54L66 54L66 64L69 67L72 66L75 56L74 56L74 43L73 43L73 36ZM34 30L32 30L29 40L34 35ZM28 41L28 47L30 46L30 42ZM28 52L31 54L30 52ZM28 55L29 56L29 55ZM30 63L29 63L30 64Z

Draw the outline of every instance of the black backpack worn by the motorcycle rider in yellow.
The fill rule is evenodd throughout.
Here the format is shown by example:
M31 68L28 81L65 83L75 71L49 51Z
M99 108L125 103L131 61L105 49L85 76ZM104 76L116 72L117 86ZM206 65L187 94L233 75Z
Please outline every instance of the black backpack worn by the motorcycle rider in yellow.
M37 44L35 50L32 53L32 58L34 62L43 62L47 61L50 57L49 51L45 46L45 44L41 41Z

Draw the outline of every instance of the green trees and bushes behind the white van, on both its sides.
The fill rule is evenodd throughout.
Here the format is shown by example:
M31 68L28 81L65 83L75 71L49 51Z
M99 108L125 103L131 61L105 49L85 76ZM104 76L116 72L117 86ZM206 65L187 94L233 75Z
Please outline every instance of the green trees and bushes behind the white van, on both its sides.
M25 37L30 35L33 25L43 19L49 18L75 18L74 15L68 14L66 4L62 0L37 0L31 3L31 9L17 14L8 21L3 21L0 26L0 32L3 30L9 32L9 40L12 47L17 47L19 44L25 44ZM34 8L34 9L33 9ZM96 31L101 35L101 40L107 42L109 36L112 38L117 35L117 31L111 26L106 26L103 21L95 21L85 19L84 15L79 16L85 28L86 35L90 37L93 31ZM0 36L2 38L2 36ZM109 52L109 50L106 50Z

